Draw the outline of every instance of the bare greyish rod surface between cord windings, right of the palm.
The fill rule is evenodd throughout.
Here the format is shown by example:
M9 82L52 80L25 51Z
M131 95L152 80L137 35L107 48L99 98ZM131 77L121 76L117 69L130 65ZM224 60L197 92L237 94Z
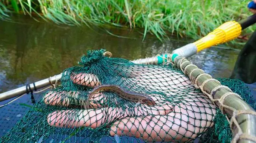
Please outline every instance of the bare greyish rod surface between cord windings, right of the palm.
M170 57L172 57L172 55ZM182 58L183 57L181 57L181 56L175 57L174 64L178 68L182 68L184 71L185 67L189 64L192 65L192 63L189 62L187 59L182 60ZM182 67L180 67L180 65L182 65ZM197 66L187 66L186 71L185 71L186 73L184 73L184 74L189 76L191 74L191 72L196 68L197 68ZM204 74L204 72L201 70L194 70L191 74L191 82L193 82L195 84L195 79L200 74ZM202 75L201 77L198 78L197 85L201 86L204 81L206 81L207 79L210 79L210 78L212 78L212 77L210 77L209 75ZM204 91L206 91L208 94L210 94L210 92L213 90L213 88L218 87L219 85L221 85L221 84L217 81L208 81L204 85ZM213 95L213 99L220 99L220 97L222 97L227 92L231 92L231 91L229 91L227 88L220 88ZM215 103L220 107L220 103L218 101ZM237 97L235 94L227 96L224 99L223 104L227 105L229 107L232 107L236 110L255 111L249 104L247 104L241 98ZM228 114L229 117L232 117L232 115L233 115L233 111L229 110L228 108L223 108L223 113ZM254 116L252 114L240 114L239 116L236 117L236 120L244 134L249 134L251 136L256 137L256 116ZM234 124L232 126L232 130L233 130L233 136L235 136L238 133L238 129ZM240 139L240 140L238 140L238 143L254 143L254 142L252 140Z

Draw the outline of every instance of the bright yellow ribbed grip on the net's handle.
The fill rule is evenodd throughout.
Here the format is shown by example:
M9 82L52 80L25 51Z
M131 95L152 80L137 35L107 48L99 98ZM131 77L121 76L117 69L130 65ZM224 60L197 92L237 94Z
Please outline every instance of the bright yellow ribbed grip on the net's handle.
M223 23L213 32L204 36L200 40L195 41L194 44L195 46L197 46L197 52L199 52L211 46L225 43L229 40L235 39L241 34L241 31L242 27L238 22L229 21Z

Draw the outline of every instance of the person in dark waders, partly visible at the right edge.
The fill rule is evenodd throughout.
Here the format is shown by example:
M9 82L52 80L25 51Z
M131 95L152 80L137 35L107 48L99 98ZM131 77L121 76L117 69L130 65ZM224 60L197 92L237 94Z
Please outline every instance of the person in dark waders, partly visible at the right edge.
M249 2L247 7L256 14L256 0ZM256 30L238 55L230 78L245 82L256 99Z

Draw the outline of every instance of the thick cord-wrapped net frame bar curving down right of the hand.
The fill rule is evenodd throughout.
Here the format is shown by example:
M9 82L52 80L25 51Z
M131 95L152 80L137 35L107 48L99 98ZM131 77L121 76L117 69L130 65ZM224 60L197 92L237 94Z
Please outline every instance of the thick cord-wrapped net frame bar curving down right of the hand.
M168 61L189 76L195 87L200 88L223 114L228 114L227 119L233 132L232 143L256 142L256 112L240 95L221 85L217 79L213 79L184 57L170 54Z

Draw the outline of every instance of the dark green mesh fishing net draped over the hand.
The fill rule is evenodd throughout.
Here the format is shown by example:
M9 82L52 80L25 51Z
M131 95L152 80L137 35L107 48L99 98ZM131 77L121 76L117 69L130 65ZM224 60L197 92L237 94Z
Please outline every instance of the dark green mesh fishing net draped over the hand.
M89 51L81 66L65 69L61 86L45 93L0 142L230 142L225 115L180 69L134 64L104 52ZM219 81L256 107L243 82ZM99 85L107 87L90 94ZM106 90L109 85L133 93L134 99L121 97L120 88ZM154 104L138 102L136 93Z

